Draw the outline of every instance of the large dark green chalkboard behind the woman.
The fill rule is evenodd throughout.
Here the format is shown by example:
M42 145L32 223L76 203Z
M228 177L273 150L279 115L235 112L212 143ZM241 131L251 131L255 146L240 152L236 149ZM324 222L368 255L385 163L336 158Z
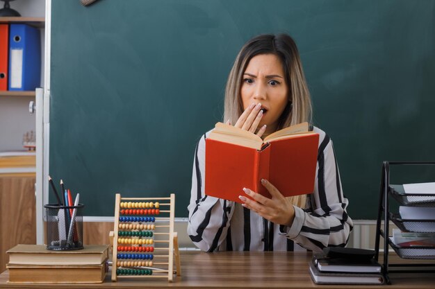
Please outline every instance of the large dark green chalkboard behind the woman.
M118 192L175 193L188 215L197 140L221 121L233 60L260 33L299 46L352 218L376 218L382 161L435 159L435 1L51 6L49 173L81 193L85 216L113 216Z

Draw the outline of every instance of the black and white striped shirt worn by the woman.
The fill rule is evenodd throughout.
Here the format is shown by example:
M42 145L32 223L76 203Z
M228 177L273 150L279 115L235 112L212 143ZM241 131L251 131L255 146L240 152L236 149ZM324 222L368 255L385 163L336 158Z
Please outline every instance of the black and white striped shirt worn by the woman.
M300 246L320 251L328 246L344 246L352 230L347 216L332 141L320 135L314 192L307 198L307 209L295 207L291 227L274 224L236 202L204 194L205 139L195 150L190 195L188 235L206 252L215 251L293 251Z

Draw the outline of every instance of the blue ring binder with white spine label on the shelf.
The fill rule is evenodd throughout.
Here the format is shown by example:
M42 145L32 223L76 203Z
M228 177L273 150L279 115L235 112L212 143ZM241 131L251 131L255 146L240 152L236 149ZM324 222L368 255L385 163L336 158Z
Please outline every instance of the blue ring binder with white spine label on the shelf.
M40 30L27 24L10 24L9 85L10 91L34 90L40 86Z

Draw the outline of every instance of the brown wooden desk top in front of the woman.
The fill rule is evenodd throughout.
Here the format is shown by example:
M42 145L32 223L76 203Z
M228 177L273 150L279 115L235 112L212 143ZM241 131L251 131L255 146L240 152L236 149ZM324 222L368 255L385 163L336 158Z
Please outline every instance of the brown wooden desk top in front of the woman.
M394 259L395 256L392 256ZM181 252L181 277L174 283L161 279L120 279L99 284L16 284L0 275L0 288L350 288L318 286L311 281L311 253L286 252ZM401 260L403 261L403 260ZM434 288L434 274L391 274L393 285L383 288ZM374 288L379 286L352 286Z

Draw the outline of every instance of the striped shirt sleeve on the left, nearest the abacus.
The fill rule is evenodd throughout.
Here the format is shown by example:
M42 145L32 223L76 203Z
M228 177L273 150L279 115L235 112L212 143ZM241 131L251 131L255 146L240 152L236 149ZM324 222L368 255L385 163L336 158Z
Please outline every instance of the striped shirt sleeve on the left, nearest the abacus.
M199 140L195 149L192 169L192 189L188 205L188 235L202 251L214 252L227 238L233 202L210 197L204 193L205 139Z

